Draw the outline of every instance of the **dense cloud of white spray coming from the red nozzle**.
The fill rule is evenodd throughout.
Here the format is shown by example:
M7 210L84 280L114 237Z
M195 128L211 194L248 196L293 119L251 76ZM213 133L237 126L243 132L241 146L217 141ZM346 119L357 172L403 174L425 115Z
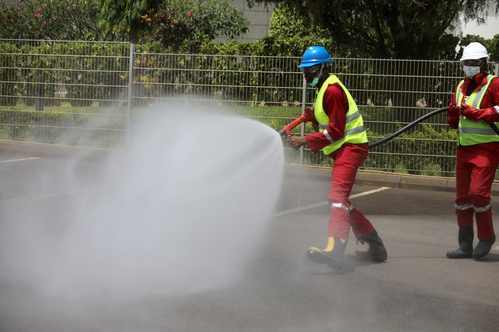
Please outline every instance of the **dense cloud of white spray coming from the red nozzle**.
M13 285L42 298L126 301L216 289L245 272L281 188L277 132L185 107L157 107L134 132L128 151L85 183L79 160L60 174L71 195L21 213L3 204L4 310Z

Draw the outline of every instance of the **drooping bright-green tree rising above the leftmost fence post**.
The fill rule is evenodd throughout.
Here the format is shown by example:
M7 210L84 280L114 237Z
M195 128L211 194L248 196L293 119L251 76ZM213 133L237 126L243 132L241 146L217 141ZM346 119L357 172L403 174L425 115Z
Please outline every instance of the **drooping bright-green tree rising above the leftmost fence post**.
M130 42L138 42L147 29L141 24L141 16L150 11L157 11L162 0L102 0L101 15L98 26L103 29L119 32L128 31Z

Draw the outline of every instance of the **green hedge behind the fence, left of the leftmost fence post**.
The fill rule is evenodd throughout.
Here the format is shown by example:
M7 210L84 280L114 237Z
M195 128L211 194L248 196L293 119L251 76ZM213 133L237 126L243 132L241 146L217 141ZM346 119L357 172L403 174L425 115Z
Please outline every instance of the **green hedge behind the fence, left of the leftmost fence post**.
M0 85L0 104L15 105L22 97L27 105L33 105L35 83L40 77L44 82L45 105L60 103L61 90L65 90L73 106L91 105L93 100L108 105L118 99L119 76L128 71L130 46L75 42L17 47L0 43L0 52L8 54L0 57L4 67L0 68L0 80L5 82Z

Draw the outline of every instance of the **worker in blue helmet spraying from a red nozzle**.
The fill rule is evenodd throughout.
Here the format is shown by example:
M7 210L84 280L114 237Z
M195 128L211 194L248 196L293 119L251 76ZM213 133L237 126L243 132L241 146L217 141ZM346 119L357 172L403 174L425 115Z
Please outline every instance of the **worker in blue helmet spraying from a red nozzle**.
M313 152L320 149L334 160L329 203L328 244L323 250L309 248L307 257L315 263L342 268L350 227L363 250L348 256L359 260L385 261L387 253L381 238L369 220L350 203L350 192L357 170L367 156L367 135L357 105L338 77L328 73L331 64L328 51L321 46L309 47L303 54L301 68L305 80L317 88L313 110L306 109L315 125L314 134L290 136L288 145L298 149L308 145Z

